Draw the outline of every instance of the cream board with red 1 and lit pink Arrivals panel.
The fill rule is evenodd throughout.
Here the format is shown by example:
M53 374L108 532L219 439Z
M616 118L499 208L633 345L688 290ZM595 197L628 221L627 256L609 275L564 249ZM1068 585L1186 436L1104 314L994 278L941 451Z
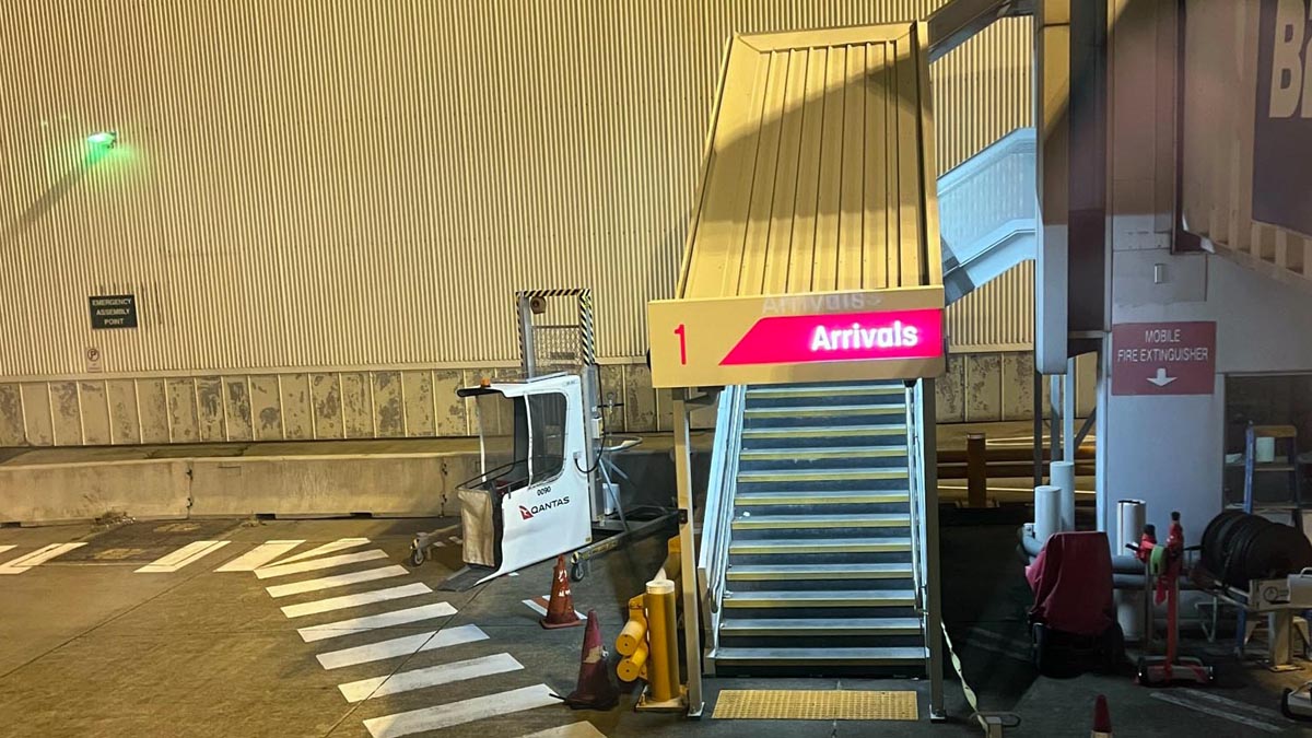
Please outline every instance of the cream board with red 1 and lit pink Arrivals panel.
M656 387L943 373L942 288L657 301L648 331Z

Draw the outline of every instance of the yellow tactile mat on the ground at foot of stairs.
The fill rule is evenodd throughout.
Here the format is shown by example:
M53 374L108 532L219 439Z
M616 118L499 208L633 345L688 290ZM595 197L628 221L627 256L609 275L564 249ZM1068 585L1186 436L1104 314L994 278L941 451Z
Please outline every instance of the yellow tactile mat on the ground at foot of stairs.
M722 689L716 720L920 720L916 692Z

